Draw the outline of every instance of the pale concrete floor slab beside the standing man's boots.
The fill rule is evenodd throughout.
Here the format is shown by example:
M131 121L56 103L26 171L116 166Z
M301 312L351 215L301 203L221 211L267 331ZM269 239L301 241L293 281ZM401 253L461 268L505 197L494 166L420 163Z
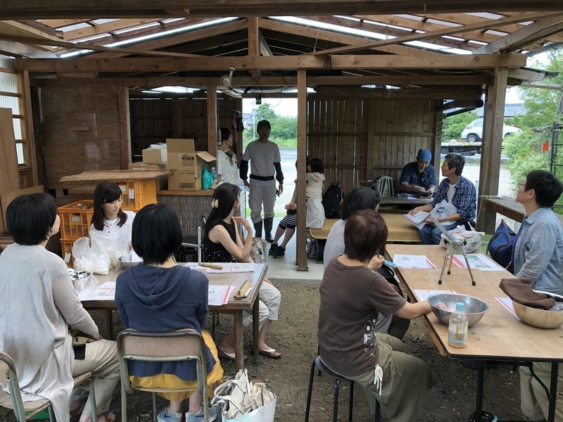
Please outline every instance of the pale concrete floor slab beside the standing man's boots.
M274 229L272 237L275 234L277 225L282 217L274 218ZM322 279L323 265L317 264L314 258L308 258L308 271L297 271L296 266L296 235L293 235L286 247L286 255L281 258L274 258L272 255L267 257L268 271L267 277L272 281L287 283L303 283L318 284ZM268 250L270 243L267 243Z

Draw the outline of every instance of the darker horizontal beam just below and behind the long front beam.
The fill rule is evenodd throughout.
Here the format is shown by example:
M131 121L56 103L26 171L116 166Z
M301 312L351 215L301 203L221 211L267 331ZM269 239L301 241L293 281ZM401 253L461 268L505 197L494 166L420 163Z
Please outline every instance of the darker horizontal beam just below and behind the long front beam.
M512 69L511 69L512 70ZM515 69L516 70L516 69ZM530 72L536 73L536 72ZM65 74L68 75L68 74ZM217 78L209 77L175 77L175 76L163 76L163 77L118 77L118 78L98 78L89 79L84 81L80 78L82 73L76 73L76 79L69 80L65 77L65 80L72 83L84 83L84 84L108 84L108 83L120 83L125 84L128 87L141 87L142 89L152 89L156 87L163 86L178 86L178 87L191 87L191 88L201 88L206 89L210 84L216 83ZM422 76L422 75L408 75L408 76L396 76L396 75L381 75L381 76L309 76L307 78L307 83L310 87L316 87L317 85L393 85L396 87L404 87L408 85L415 85L417 87L423 87L425 85L486 85L492 82L491 76L487 74L483 75L434 75L434 76ZM49 86L60 84L58 79L46 78L46 79L32 79L32 83L37 86ZM296 76L285 76L285 77L233 77L233 85L235 87L296 87L297 77Z

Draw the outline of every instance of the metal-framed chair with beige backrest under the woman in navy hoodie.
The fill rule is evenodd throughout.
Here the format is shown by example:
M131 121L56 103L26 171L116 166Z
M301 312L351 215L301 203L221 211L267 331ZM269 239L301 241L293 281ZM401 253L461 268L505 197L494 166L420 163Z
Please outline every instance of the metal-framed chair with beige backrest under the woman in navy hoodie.
M127 394L132 394L133 390L153 393L153 421L155 422L157 416L157 392L184 392L191 390L187 388L136 387L129 382L127 361L176 362L192 359L196 361L198 390L201 392L201 395L203 395L204 421L209 421L207 373L205 371L205 341L200 333L189 328L170 331L168 333L149 333L129 328L118 334L118 355L121 377L122 422L127 422Z

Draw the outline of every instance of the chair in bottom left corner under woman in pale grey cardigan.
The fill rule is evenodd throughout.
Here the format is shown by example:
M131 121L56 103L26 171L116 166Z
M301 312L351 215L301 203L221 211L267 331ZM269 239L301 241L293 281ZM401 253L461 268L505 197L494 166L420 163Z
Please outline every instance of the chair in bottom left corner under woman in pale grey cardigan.
M98 421L98 412L96 411L96 396L94 395L94 382L91 372L85 372L73 378L75 387L87 390L90 393L90 404L92 409L92 419ZM0 390L0 406L13 409L15 418L18 421L27 421L44 409L49 410L49 421L54 422L53 407L49 399L38 399L32 402L23 402L20 390L20 382L18 374L15 371L15 362L6 352L0 352L0 383L7 383L8 390L5 392ZM27 414L26 414L27 412Z

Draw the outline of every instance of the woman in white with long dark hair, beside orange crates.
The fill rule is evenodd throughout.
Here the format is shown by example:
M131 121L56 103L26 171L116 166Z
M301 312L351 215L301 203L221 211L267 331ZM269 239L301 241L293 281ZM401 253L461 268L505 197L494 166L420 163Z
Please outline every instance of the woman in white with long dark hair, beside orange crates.
M121 209L122 191L113 181L103 181L94 191L94 215L90 226L92 248L103 250L112 262L131 249L135 213Z

